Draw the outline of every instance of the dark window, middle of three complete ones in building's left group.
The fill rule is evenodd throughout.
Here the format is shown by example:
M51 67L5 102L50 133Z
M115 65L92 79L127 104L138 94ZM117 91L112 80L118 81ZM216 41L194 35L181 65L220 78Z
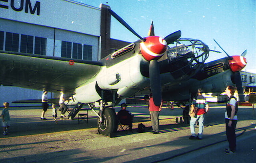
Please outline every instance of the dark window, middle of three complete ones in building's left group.
M21 53L33 53L33 41L34 37L31 35L21 35L20 37L20 52Z

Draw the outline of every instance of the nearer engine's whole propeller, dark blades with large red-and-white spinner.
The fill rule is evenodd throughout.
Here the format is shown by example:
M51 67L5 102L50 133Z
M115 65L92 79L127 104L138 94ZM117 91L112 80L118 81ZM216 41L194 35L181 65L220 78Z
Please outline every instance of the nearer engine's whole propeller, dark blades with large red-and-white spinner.
M181 31L176 31L161 38L158 36L151 35L149 37L142 38L132 27L130 27L120 16L118 16L114 11L108 9L109 13L120 22L124 27L126 27L130 32L136 35L142 42L140 43L140 50L142 56L149 61L149 79L150 88L156 106L160 106L162 102L162 92L161 92L161 81L160 81L160 70L158 65L158 59L162 57L166 51L167 45L174 42L176 39L180 38ZM152 24L152 29L154 29Z

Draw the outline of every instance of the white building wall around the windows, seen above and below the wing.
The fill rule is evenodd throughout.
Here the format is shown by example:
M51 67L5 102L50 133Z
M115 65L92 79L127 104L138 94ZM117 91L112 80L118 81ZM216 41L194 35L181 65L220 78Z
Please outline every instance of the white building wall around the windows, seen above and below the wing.
M29 2L34 14L28 7ZM35 7L39 2L40 8ZM61 57L61 43L69 41L92 45L92 60L100 58L100 8L72 0L7 0L0 1L0 5L0 31L47 38L48 56ZM28 105L11 102L42 96L42 91L13 86L0 86L0 92L0 106L3 102L9 102L10 106ZM49 92L48 98L51 96Z

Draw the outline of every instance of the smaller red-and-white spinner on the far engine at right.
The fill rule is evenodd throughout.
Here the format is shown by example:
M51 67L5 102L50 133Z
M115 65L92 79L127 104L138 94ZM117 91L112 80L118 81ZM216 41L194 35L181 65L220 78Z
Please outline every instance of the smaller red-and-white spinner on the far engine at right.
M231 57L233 59L229 60L228 63L229 63L230 69L233 72L240 71L246 66L247 61L246 61L246 58L244 58L243 56L236 55Z

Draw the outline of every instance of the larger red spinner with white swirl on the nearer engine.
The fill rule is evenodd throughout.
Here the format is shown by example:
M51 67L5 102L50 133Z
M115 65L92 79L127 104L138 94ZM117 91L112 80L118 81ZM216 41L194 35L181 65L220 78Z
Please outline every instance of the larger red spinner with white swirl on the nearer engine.
M140 43L140 51L147 61L158 59L164 55L167 49L167 43L162 37L149 36L144 39L146 39L146 41Z

